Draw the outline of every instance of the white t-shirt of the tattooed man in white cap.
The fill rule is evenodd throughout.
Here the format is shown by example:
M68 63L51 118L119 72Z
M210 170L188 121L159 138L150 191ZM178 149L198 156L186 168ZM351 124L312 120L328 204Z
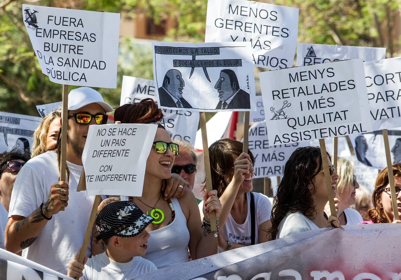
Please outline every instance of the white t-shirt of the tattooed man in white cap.
M82 246L94 196L77 192L81 165L67 162L70 171L69 201L65 211L53 215L36 241L27 248L26 258L66 274L71 259ZM50 187L59 180L57 154L53 151L30 159L20 170L11 194L9 217L28 217L41 203L46 203ZM91 254L91 242L87 256Z

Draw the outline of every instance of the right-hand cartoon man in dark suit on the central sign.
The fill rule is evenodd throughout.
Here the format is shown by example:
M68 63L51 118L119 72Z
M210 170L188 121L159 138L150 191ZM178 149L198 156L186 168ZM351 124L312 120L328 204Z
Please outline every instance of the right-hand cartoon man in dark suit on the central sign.
M251 108L249 93L239 88L237 75L231 69L220 71L219 81L215 85L220 101L216 109Z

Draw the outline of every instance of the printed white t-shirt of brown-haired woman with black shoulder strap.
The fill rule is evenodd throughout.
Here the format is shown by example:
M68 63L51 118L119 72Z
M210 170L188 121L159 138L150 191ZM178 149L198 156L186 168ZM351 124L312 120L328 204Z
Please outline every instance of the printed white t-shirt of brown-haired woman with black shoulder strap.
M269 198L262 193L253 193L255 201L255 244L259 242L259 225L270 220L271 203ZM247 218L243 224L237 224L231 214L229 214L227 222L219 230L226 240L233 243L250 246L251 245L251 195L247 192ZM202 203L203 205L203 203ZM224 252L224 248L219 247L219 253Z

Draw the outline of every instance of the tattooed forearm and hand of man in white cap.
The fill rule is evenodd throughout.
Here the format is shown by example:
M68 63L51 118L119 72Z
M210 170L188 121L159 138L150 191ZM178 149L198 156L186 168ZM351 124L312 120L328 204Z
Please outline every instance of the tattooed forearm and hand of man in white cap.
M61 207L68 205L68 185L59 181L51 186L49 198L42 206L43 215L51 218L60 211ZM36 209L27 218L13 215L8 219L4 241L6 249L16 253L28 248L35 242L41 231L46 226L47 221L43 218L40 209Z

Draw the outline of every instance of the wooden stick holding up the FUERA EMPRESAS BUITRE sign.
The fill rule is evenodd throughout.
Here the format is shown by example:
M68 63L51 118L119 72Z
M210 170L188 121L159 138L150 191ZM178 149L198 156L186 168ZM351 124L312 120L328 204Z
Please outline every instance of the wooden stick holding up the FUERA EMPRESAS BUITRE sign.
M66 180L65 170L67 169L68 85L63 85L62 101L63 105L61 108L60 181L65 181ZM64 211L64 207L61 207L60 211Z

